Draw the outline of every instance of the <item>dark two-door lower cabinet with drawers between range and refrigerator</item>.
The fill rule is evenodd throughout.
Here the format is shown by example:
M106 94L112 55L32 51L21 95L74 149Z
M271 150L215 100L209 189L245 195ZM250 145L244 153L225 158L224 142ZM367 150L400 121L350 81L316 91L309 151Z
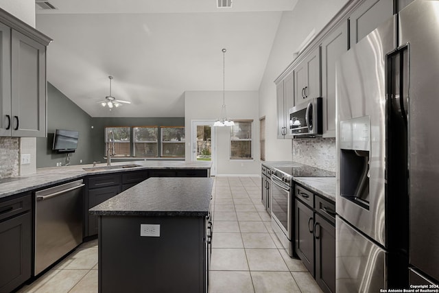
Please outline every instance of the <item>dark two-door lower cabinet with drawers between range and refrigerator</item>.
M300 185L295 196L296 253L323 292L335 292L335 202Z

